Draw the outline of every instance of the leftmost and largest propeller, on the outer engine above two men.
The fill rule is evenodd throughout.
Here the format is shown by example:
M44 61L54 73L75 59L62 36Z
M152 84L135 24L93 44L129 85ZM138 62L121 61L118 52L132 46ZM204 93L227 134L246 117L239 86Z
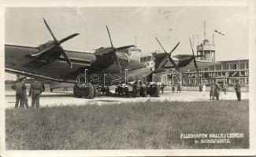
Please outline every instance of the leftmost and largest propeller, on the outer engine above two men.
M53 44L51 44L51 46L47 47L46 49L42 49L38 53L32 54L32 57L39 57L41 54L46 53L47 51L49 51L51 49L59 48L58 53L62 54L62 56L67 60L67 63L69 64L69 67L72 68L72 63L69 60L69 57L68 57L67 53L65 53L64 49L62 48L61 43L66 42L67 40L76 37L76 35L79 35L79 33L69 35L65 38L62 38L60 41L58 41L58 39L55 38L53 31L51 31L49 25L47 24L47 22L44 18L43 18L43 22L46 25L47 30L50 31L50 35L54 38L54 42L53 42Z

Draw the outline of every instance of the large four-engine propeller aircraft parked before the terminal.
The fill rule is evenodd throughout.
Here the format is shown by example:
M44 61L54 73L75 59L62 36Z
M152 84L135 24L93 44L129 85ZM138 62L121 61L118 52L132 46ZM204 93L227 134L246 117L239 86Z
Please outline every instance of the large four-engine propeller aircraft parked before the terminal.
M158 38L156 39L165 53L124 53L122 50L133 46L115 48L107 26L111 47L95 49L95 53L66 50L62 48L61 43L79 34L58 40L46 20L43 21L54 40L37 47L6 44L6 72L49 82L70 82L74 84L73 93L76 97L93 97L93 86L133 82L166 68L176 68L180 71L179 68L189 64L191 60L194 60L195 68L198 69L194 52L193 56L181 55L176 57L176 60L171 57L180 42L170 53L165 51ZM78 86L80 75L87 76L83 80L86 86Z

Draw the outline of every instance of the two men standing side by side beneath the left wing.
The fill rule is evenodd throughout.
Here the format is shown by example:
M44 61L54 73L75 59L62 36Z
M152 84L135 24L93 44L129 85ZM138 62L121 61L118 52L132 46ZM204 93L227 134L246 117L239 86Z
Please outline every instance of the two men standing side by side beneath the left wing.
M28 108L28 97L27 97L27 90L26 85L24 82L25 78L17 79L17 82L15 82L12 86L13 90L16 90L16 103L15 108L19 107ZM30 89L29 89L29 96L32 96L32 108L36 107L39 108L39 98L41 93L44 91L44 86L41 82L38 82L36 79L31 83Z

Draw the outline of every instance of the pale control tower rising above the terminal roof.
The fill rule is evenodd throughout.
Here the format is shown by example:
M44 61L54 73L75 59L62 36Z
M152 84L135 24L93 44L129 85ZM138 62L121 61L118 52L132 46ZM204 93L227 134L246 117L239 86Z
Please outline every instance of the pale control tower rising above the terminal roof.
M204 55L199 57L198 60L215 61L215 48L213 44L210 44L208 39L204 39L202 43L197 46L197 55Z

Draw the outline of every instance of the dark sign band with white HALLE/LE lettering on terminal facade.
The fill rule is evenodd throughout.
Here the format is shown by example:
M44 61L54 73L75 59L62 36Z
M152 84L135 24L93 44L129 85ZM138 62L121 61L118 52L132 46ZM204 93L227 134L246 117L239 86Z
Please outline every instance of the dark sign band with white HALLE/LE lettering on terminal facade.
M249 71L214 71L214 72L185 72L186 78L237 78L249 77ZM173 79L180 78L180 74L169 74Z

